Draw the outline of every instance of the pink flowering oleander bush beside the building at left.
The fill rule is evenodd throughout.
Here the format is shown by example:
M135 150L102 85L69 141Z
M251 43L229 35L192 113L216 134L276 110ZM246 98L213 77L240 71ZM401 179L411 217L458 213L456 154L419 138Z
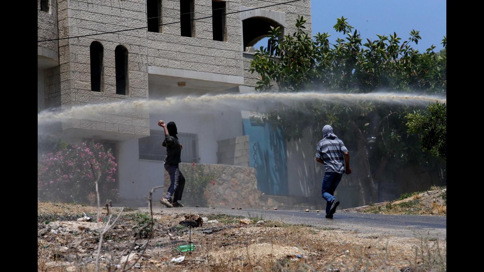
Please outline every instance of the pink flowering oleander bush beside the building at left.
M94 169L94 174L91 170ZM101 143L84 142L43 155L38 164L37 194L40 200L89 201L95 199L98 174L101 201L117 200L115 158Z

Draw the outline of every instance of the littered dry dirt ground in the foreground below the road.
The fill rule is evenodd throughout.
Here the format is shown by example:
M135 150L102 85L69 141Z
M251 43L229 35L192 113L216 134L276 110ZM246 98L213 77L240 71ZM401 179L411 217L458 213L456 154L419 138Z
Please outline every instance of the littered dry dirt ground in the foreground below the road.
M90 221L77 221L91 217ZM108 214L101 209L100 226ZM118 216L118 208L109 213ZM99 246L96 207L38 202L38 271L94 271ZM218 223L189 229L184 214L153 214L128 208L103 238L100 271L445 271L446 241L419 233L415 238L372 236L341 229L290 225L250 215L199 215ZM82 219L84 220L84 219ZM259 222L258 221L264 221ZM151 237L150 237L151 235ZM192 252L178 246L193 244ZM130 250L131 249L131 250ZM130 255L128 255L130 251ZM181 262L174 258L184 257Z

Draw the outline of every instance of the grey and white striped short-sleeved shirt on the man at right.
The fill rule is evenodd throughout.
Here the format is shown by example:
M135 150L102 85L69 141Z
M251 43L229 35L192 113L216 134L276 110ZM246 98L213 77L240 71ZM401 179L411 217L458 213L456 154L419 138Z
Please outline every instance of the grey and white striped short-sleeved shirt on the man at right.
M338 138L326 137L319 141L316 147L316 157L323 160L324 172L345 172L345 158L343 153L348 152L345 144Z

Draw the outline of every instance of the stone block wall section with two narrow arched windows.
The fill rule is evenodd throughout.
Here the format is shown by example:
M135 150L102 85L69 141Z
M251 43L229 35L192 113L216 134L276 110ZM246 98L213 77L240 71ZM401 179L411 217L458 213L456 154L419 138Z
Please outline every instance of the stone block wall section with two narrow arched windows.
M86 2L58 0L59 36L64 38L144 27L146 25L145 2L145 0ZM90 46L94 41L103 46L101 92L91 91ZM126 95L116 94L115 48L118 45L124 46L128 51ZM59 42L61 107L147 98L146 54L146 29L61 40ZM122 113L106 111L99 118L65 123L63 129L95 130L134 137L150 135L149 115L139 111ZM96 133L93 131L91 134Z

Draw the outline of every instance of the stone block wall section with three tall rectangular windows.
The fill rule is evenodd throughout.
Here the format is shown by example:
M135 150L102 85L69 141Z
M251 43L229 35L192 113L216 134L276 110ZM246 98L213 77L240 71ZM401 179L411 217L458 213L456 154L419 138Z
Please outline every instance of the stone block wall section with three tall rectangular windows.
M226 1L227 13L239 11L240 0ZM212 16L212 0L195 1L195 19ZM180 21L180 0L162 0L162 24ZM213 41L212 18L193 22L195 37L181 36L180 24L146 32L148 65L242 76L241 14L226 16L226 41Z

